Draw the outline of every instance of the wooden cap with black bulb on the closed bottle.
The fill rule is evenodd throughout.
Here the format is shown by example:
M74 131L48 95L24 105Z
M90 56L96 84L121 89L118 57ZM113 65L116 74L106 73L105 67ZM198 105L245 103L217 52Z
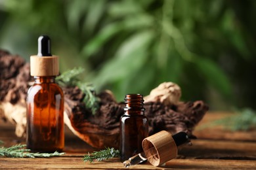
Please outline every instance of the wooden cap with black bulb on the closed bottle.
M30 75L57 76L58 56L51 54L51 39L47 35L38 38L38 54L30 56Z

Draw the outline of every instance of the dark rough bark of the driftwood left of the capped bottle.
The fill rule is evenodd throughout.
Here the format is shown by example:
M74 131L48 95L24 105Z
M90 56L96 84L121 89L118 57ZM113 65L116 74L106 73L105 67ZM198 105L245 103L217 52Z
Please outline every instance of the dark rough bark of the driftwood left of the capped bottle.
M0 101L18 103L26 98L29 88L30 64L25 59L0 50Z

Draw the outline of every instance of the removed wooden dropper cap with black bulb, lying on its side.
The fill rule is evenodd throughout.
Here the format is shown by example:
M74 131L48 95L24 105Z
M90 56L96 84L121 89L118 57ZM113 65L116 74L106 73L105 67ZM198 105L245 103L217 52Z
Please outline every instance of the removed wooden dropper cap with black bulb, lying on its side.
M142 148L148 161L159 166L177 156L177 146L188 142L188 135L181 131L175 135L167 131L160 131L142 141ZM154 150L150 149L154 148Z

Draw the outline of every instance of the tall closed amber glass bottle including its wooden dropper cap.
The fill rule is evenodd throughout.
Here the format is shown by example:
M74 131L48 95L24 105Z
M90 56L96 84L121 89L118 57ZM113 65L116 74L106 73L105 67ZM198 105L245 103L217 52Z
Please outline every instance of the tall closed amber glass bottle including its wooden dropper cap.
M30 73L35 83L27 95L27 147L37 152L64 148L64 95L54 82L58 56L51 55L50 39L38 39L38 54L30 57Z

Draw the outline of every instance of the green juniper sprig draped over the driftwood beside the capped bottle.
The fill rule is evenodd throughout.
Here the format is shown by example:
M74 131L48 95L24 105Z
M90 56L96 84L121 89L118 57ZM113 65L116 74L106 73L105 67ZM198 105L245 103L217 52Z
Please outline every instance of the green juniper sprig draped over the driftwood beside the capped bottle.
M96 114L96 110L99 108L99 99L95 95L95 87L93 87L92 84L81 82L77 78L77 75L83 73L83 71L84 69L81 67L65 71L62 75L56 77L56 82L58 82L60 86L77 86L83 93L85 93L83 102L85 103L86 108L91 109L91 112Z

